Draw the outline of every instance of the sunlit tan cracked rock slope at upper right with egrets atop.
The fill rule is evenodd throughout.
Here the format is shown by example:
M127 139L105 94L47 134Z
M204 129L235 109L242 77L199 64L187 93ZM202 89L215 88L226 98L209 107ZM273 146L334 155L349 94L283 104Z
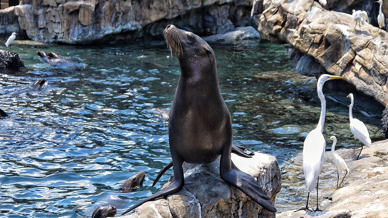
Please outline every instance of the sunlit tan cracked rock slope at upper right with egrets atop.
M361 30L354 30L350 14L312 4L312 0L264 2L262 14L255 16L262 37L289 43L312 56L330 74L343 76L357 90L385 104L388 33L377 34L378 28L367 22Z

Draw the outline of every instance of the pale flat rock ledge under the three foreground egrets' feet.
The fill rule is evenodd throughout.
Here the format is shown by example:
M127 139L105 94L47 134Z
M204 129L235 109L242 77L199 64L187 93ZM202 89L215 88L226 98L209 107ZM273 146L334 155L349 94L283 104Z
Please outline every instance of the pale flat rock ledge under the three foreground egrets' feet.
M308 212L304 217L388 217L388 198L386 197L388 194L388 140L375 142L370 147L364 146L360 159L355 160L359 152L360 148L355 151L353 149L336 150L336 153L345 159L350 170L346 175L345 185L337 190L333 190L337 182L336 169L331 153L326 152L319 180L321 192L319 207L323 208L323 212ZM294 163L301 164L301 158L301 154L298 155ZM295 166L292 168L295 170ZM299 169L301 170L301 166ZM341 171L340 177L343 175L344 172ZM315 207L314 198L316 199L316 195L310 198L311 207L313 205ZM285 211L277 214L276 217L296 218L303 217L305 213L306 211Z

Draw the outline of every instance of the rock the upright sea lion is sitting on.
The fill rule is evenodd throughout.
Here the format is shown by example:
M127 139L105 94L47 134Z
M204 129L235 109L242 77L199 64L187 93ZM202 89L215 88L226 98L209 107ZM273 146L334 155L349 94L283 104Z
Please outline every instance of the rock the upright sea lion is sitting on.
M281 189L280 169L275 157L256 152L253 158L232 154L232 160L240 170L253 175L271 202L275 202L276 194ZM275 213L263 210L240 190L223 182L219 161L206 166L186 164L185 168L185 185L180 192L167 199L147 202L131 215L122 217L275 217Z

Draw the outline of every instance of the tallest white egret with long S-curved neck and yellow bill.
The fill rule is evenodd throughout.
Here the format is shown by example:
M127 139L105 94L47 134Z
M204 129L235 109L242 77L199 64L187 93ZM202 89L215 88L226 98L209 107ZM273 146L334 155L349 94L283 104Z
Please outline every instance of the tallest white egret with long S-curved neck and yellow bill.
M326 99L323 95L322 88L323 84L327 80L333 79L342 79L342 77L322 74L318 79L317 93L321 102L320 118L317 128L308 133L307 137L305 138L305 142L303 143L303 171L305 173L308 195L306 208L301 209L304 209L306 211L311 211L310 209L308 209L308 198L310 197L310 192L312 192L312 190L314 189L315 183L317 184L317 209L315 209L314 211L320 211L318 204L318 183L319 173L322 170L326 149L326 140L322 134L326 117Z

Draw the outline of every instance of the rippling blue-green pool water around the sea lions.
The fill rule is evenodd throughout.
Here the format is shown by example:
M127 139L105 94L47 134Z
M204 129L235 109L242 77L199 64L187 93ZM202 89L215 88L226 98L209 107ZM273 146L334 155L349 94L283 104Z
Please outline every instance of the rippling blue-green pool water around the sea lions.
M122 213L158 192L172 173L151 187L171 161L166 117L180 73L165 42L111 47L20 43L12 48L26 67L0 77L0 107L10 115L0 120L0 134L14 136L0 138L0 216L90 217L104 202ZM211 46L232 114L234 144L275 156L284 179L276 206L279 211L300 208L306 197L301 163L290 166L318 123L315 78L295 72L284 45L244 41ZM51 66L37 50L84 65ZM38 92L7 95L38 78L48 81ZM348 93L325 94L338 98ZM355 102L368 101L355 95ZM327 103L325 137L336 135L338 148L353 147L348 106ZM359 108L377 116L357 110L354 116L367 124L372 142L382 140L383 108L370 101L366 105ZM146 173L143 187L122 192L120 185L140 170Z

